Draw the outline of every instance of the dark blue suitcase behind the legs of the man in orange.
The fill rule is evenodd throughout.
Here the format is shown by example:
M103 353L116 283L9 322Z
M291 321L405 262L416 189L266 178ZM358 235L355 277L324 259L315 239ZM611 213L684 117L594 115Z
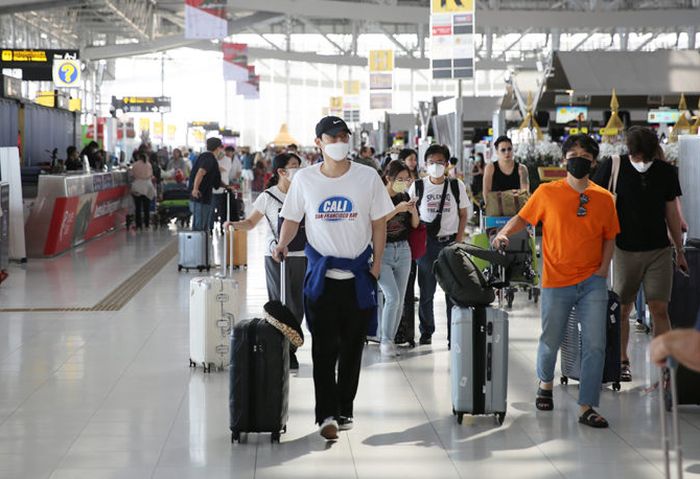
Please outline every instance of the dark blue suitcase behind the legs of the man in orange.
M561 343L561 383L568 384L569 379L581 378L581 329L576 318L576 308L569 313L566 333ZM603 382L612 383L613 390L620 390L620 298L608 291L608 315L605 327L605 365Z

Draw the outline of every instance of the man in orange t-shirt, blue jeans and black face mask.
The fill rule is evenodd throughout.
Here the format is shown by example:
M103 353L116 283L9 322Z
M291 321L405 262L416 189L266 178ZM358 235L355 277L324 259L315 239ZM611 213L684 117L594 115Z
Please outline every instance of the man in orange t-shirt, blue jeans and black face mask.
M598 406L605 363L606 278L620 226L612 195L589 181L599 151L595 140L573 135L564 142L562 150L566 179L540 185L493 243L507 245L509 235L528 223L542 222L542 335L537 349L540 385L535 406L542 411L554 408L552 387L557 352L569 312L576 307L583 343L579 422L604 428L608 422L593 408Z

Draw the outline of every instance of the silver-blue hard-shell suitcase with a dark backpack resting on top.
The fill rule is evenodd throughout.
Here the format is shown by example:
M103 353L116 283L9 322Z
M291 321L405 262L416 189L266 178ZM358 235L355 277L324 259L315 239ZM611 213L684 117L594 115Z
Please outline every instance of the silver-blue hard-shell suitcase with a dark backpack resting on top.
M500 308L452 308L450 349L452 413L506 417L508 393L508 313Z

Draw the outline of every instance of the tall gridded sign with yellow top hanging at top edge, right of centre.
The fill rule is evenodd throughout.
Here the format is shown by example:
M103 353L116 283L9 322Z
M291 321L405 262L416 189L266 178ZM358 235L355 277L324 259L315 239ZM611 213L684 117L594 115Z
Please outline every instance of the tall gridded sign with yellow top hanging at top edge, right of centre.
M433 79L474 78L474 0L431 0Z

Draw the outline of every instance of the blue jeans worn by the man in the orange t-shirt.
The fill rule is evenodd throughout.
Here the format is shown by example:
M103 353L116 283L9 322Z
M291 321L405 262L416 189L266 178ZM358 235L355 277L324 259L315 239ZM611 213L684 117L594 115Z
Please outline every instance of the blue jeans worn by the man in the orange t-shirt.
M571 308L581 323L581 378L578 403L598 406L605 365L605 325L608 310L607 280L593 275L563 288L542 288L542 335L537 348L537 376L554 380L557 352L564 339Z

